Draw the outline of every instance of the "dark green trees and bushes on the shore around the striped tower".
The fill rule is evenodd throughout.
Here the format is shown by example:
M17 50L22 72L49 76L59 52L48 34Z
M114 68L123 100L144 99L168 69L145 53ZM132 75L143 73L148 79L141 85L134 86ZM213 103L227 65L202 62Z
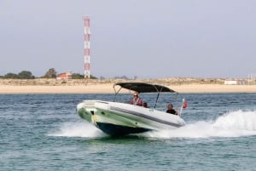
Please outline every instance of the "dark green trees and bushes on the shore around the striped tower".
M50 68L44 76L39 77L39 78L56 78L57 77L57 72L55 71L54 68ZM0 78L6 78L6 79L34 79L37 78L33 76L31 71L20 71L18 74L9 72L5 74L4 76L0 76ZM72 74L73 79L83 79L84 75L81 75L79 73L73 73ZM90 76L92 79L96 79L96 77Z

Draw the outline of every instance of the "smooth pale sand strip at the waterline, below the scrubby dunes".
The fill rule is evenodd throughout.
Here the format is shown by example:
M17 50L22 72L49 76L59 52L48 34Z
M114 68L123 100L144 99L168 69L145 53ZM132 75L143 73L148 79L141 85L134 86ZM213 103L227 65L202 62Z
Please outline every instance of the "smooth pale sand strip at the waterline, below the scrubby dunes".
M179 93L256 93L254 85L183 84L168 86ZM0 85L0 94L112 94L113 83L73 86Z

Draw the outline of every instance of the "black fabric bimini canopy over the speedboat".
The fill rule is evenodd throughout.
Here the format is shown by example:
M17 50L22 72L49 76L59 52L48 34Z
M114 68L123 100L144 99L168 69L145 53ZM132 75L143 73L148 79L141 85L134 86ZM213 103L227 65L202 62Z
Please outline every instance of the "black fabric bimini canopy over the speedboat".
M149 83L115 83L113 88L117 85L119 85L121 88L137 91L137 93L177 93L165 86Z

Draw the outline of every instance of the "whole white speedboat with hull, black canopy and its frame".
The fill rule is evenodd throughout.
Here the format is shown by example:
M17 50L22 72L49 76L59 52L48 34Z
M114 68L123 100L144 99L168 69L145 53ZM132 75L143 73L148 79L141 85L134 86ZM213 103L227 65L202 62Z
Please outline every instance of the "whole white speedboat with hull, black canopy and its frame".
M176 94L177 97L177 92L174 90L150 83L115 83L113 89L113 101L84 100L79 103L77 105L79 117L111 136L140 134L148 131L179 128L185 125L181 117L183 105L177 115L156 108L160 94ZM120 92L124 89L128 90L130 94L131 92L156 94L154 107L146 108L127 102L119 102L117 97L122 94Z

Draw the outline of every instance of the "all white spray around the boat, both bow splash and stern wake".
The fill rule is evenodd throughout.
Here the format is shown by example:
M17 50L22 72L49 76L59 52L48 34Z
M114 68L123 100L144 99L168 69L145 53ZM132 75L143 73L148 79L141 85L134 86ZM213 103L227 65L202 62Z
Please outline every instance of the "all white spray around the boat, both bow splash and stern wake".
M231 111L218 117L216 121L188 123L182 128L147 132L139 136L148 138L211 138L241 137L256 135L256 111ZM108 135L90 123L63 123L49 136L104 138Z

